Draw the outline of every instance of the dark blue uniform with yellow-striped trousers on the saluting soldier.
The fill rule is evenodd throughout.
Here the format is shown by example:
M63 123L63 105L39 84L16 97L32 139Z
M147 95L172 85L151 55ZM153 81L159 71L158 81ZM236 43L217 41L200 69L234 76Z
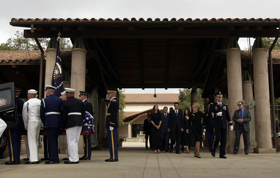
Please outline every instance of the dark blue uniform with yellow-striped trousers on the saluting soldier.
M119 127L119 125L117 119L117 112L119 109L119 102L116 100L116 97L112 98L111 101L105 100L105 102L108 106L106 128L108 133L110 158L116 160L118 159L117 128ZM110 127L114 127L114 130L110 131Z

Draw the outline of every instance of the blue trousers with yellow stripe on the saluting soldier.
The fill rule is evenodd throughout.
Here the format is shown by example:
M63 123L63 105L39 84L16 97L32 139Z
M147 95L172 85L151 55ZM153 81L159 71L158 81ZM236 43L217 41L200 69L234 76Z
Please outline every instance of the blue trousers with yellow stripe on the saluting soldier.
M108 143L111 159L118 159L117 129L110 131L107 129Z

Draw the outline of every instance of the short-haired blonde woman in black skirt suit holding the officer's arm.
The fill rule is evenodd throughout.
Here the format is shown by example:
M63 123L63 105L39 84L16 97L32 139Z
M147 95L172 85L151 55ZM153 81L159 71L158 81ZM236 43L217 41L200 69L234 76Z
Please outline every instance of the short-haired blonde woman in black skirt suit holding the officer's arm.
M197 102L193 103L193 112L190 113L189 120L191 121L191 131L193 133L193 137L195 139L195 151L194 156L197 158L200 157L199 147L200 147L200 141L202 138L202 124L201 124L201 118L206 118L206 115L204 115L201 111L198 111L200 108L200 104ZM187 129L187 133L189 133L189 129Z

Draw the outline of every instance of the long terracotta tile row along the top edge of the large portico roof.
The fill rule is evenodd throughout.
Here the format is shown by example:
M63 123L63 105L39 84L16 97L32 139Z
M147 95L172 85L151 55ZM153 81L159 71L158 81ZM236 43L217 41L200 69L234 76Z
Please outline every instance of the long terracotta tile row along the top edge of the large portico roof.
M187 18L187 19L183 19L183 18L180 18L178 20L176 20L176 18L172 18L170 20L168 20L167 18L164 18L162 20L160 20L159 18L156 18L155 20L152 20L151 18L148 18L147 20L144 20L143 18L139 18L139 20L137 20L136 18L131 18L131 20L127 19L127 18L124 18L124 19L119 19L119 18L116 18L116 19L111 19L111 18L108 18L108 19L103 19L103 18L100 18L100 19L95 19L95 18L91 18L91 19L79 19L79 18L76 18L76 19L71 19L71 18L67 18L67 19L57 19L57 18L51 18L51 19L48 19L48 18L43 18L43 19L39 19L39 18L28 18L28 19L24 19L24 18L12 18L11 19L11 22L280 22L280 19L276 19L276 18L273 18L273 19L270 19L270 18L266 18L266 19L262 19L262 18L250 18L250 19L246 19L246 18L234 18L234 19L231 19L231 18L226 18L226 19L223 19L223 18L219 18L219 19L216 19L216 18L212 18L212 19L191 19L191 18Z

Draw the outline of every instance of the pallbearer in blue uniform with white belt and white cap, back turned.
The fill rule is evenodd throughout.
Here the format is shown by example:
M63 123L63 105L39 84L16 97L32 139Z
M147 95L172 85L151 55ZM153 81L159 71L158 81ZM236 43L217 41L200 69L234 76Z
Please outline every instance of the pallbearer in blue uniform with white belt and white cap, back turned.
M44 158L45 164L57 164L58 158L58 136L62 127L62 99L55 96L55 87L46 85L46 98L41 100L40 116L43 125L46 128L47 141L50 149L50 159ZM45 151L45 150L44 150Z

